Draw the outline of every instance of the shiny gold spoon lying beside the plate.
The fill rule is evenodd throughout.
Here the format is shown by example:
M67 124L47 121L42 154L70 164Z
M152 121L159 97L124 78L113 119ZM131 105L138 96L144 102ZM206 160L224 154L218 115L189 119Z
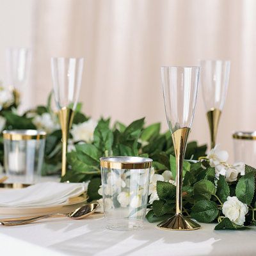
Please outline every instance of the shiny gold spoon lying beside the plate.
M54 217L68 217L74 220L86 218L93 214L97 209L99 208L99 204L93 203L93 204L86 204L83 205L76 210L69 212L68 214L63 214L63 213L51 213L51 214L45 214L42 216L36 216L36 217L29 217L29 218L24 218L21 217L22 220L2 220L0 221L0 225L3 226L16 226L16 225L24 225L27 223L31 223L36 220L42 220L46 218L54 218ZM20 218L20 219L21 219Z

